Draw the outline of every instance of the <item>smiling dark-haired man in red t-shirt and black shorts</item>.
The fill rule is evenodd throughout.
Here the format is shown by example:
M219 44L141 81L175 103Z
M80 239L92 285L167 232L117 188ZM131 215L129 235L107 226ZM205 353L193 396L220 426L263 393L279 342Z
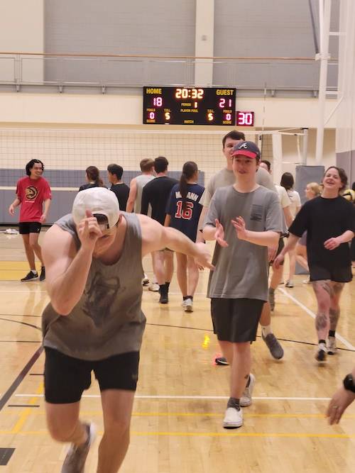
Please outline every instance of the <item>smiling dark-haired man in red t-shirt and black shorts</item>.
M43 169L43 162L40 160L31 160L27 163L27 176L18 180L17 197L9 207L10 215L14 215L15 208L21 205L18 230L22 235L28 265L31 269L21 281L31 281L38 278L38 272L35 269L35 255L37 255L42 266L40 281L45 279L45 267L40 245L38 245L38 235L42 224L47 219L52 194L48 182L42 177Z

